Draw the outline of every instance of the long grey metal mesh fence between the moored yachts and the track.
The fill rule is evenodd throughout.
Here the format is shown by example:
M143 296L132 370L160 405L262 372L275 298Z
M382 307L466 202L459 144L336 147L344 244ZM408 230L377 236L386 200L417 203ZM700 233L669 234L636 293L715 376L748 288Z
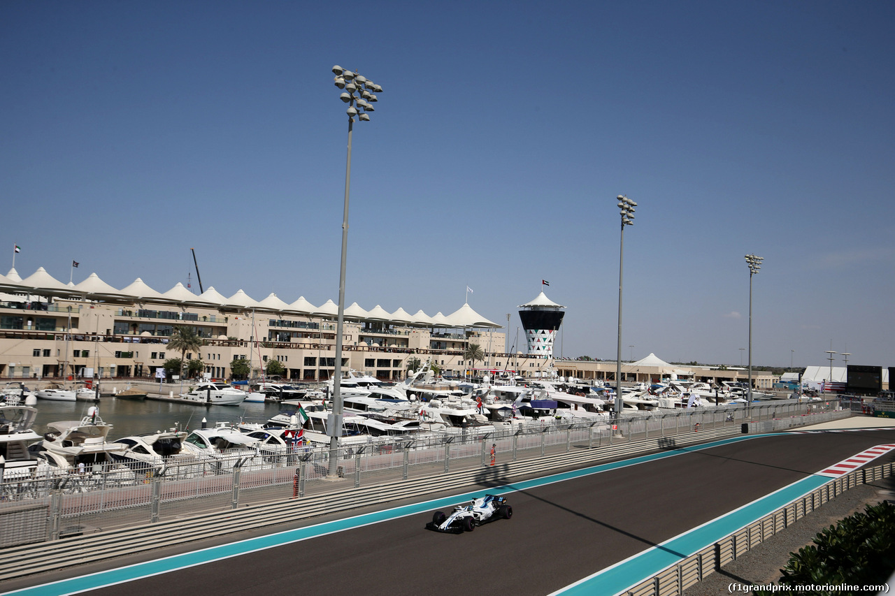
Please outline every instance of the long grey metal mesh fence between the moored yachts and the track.
M0 546L258 505L331 486L330 467L345 479L340 489L378 485L433 473L536 459L581 449L616 447L644 438L671 438L700 430L736 427L838 409L829 402L780 401L730 408L626 413L619 421L560 424L406 438L370 438L333 454L327 447L283 452L250 451L209 461L158 468L98 468L0 483ZM330 457L337 461L330 466Z

